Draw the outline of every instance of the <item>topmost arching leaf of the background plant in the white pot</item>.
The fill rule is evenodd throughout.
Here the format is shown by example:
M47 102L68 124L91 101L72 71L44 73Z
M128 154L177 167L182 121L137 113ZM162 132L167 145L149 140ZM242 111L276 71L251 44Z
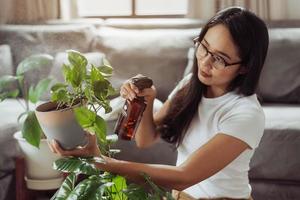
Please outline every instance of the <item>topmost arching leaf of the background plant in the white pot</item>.
M25 72L33 69L49 66L53 57L48 54L37 54L25 58L17 67L17 75L23 75Z

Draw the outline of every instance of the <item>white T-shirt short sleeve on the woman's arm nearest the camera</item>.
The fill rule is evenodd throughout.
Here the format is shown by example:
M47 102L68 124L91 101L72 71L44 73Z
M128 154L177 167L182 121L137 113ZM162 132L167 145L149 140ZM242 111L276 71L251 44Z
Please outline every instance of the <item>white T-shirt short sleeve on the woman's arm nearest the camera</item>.
M226 113L219 123L219 133L233 136L256 148L263 135L265 115L259 107L240 106Z

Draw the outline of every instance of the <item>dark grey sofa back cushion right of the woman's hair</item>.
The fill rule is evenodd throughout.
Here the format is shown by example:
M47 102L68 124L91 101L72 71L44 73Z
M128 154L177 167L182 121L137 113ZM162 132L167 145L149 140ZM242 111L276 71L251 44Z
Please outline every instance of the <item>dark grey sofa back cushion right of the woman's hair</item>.
M258 93L264 102L300 103L300 29L271 29L269 35Z

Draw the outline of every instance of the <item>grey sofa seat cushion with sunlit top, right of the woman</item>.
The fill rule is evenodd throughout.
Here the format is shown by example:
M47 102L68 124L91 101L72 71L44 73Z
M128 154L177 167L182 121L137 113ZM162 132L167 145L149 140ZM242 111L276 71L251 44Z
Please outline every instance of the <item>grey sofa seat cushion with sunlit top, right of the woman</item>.
M300 107L263 106L266 128L250 163L251 179L300 181Z

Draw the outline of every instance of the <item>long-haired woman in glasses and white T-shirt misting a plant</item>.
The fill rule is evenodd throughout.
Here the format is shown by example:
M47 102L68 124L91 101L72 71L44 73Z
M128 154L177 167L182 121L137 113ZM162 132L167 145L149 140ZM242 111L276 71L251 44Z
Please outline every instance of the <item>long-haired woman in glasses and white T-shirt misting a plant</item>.
M264 130L264 113L255 95L268 49L264 22L239 7L216 14L195 39L193 72L153 116L156 90L138 91L130 81L121 96L144 96L147 108L137 130L139 147L163 138L178 147L176 166L141 164L105 158L103 170L141 180L141 172L177 191L180 199L250 199L249 162ZM83 149L61 155L99 156L96 139ZM185 196L185 197L184 197Z

